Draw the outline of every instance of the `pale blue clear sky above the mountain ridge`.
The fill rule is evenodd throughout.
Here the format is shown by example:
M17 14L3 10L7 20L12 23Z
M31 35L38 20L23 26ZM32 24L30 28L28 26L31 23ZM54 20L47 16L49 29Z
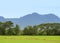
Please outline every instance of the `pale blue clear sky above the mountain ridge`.
M0 16L5 18L20 18L33 12L60 17L60 0L0 0Z

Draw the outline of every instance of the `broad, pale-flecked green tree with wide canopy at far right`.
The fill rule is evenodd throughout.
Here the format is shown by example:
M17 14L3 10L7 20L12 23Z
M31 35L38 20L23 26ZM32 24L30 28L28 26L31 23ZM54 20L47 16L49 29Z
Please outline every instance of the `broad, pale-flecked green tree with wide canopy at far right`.
M60 35L60 23L46 23L38 26L40 35Z

